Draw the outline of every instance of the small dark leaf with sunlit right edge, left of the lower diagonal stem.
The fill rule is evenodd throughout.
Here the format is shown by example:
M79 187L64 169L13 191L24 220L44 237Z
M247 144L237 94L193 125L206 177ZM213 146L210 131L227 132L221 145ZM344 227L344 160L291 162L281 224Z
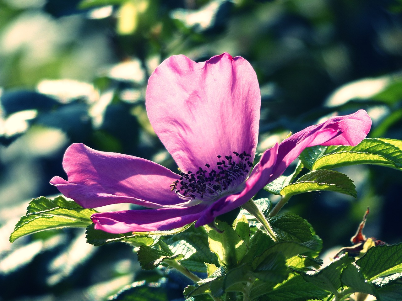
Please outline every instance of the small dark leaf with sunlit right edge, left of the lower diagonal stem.
M153 270L164 260L179 260L182 255L173 255L171 252L158 250L149 246L140 246L137 252L138 261L144 270Z

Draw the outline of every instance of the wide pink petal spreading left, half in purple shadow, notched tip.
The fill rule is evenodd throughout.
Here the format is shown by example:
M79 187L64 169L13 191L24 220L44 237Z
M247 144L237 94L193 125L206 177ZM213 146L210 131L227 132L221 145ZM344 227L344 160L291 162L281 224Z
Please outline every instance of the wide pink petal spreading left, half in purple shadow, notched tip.
M146 159L75 143L66 150L63 167L68 181L56 176L50 183L85 208L115 203L160 208L183 203L169 187L179 176Z

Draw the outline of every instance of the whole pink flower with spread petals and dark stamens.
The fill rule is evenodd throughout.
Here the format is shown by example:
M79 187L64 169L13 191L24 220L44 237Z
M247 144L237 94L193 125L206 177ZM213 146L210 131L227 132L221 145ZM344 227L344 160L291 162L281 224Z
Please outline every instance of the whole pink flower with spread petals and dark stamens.
M252 168L258 139L260 89L254 70L228 53L195 63L166 59L151 75L149 120L182 173L146 159L72 144L64 155L68 181L50 183L85 208L133 203L144 210L102 212L96 229L111 233L209 224L246 203L314 145L356 145L370 130L364 110L310 126L268 149Z

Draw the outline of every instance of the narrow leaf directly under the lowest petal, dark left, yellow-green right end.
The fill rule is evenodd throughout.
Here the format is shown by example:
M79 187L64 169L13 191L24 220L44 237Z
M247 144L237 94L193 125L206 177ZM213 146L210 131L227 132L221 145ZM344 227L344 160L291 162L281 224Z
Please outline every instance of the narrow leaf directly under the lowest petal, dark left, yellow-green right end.
M102 230L95 230L94 224L86 227L86 241L94 246L102 246L109 242L125 242L134 247L152 246L154 238L144 235L133 235L132 232L113 234Z

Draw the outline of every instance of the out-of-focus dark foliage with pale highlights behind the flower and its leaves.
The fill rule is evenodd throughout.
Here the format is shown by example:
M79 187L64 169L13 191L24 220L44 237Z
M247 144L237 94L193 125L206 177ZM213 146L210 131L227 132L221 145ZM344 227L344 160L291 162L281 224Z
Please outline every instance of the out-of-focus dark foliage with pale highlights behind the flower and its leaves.
M12 245L8 236L31 198L57 195L48 182L65 175L73 142L176 169L144 106L149 75L170 55L250 61L262 94L259 152L359 108L373 118L369 136L401 139L401 12L400 0L0 0L0 300L105 300L152 279L165 289L149 299L180 300L185 279L140 271L124 244L94 248L74 230ZM342 172L357 200L310 193L285 209L326 250L349 246L367 206L366 235L402 241L400 171Z

